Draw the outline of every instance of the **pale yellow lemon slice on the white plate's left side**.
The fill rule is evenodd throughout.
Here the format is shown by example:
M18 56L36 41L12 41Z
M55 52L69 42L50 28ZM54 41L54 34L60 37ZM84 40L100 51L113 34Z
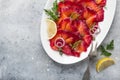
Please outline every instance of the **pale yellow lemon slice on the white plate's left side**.
M57 33L57 25L54 21L46 19L48 39L53 38Z

